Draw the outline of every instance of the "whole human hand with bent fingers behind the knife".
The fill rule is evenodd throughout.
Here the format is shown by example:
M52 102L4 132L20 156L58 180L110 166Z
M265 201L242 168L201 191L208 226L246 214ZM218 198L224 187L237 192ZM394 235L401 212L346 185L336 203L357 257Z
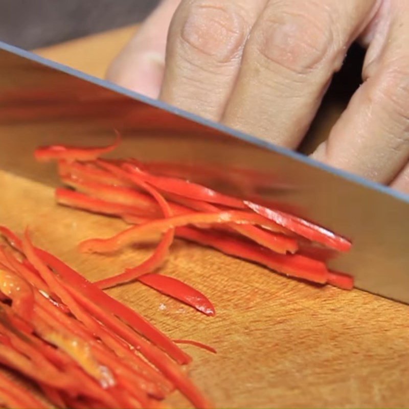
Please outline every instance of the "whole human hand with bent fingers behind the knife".
M108 78L296 149L354 40L363 84L312 157L409 193L407 0L164 0Z

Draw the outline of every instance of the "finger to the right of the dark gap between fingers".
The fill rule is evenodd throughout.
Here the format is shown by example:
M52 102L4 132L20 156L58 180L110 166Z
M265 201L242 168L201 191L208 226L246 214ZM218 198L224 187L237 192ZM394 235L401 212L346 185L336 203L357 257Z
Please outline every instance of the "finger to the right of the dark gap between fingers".
M409 10L400 1L388 4L389 31L376 40L382 47L373 43L376 55L371 43L365 83L313 157L389 184L409 159Z

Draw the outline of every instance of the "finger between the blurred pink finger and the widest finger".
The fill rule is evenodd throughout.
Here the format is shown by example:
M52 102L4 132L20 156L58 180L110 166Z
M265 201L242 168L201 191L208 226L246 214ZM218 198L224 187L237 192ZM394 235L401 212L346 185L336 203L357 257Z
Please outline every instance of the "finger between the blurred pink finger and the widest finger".
M183 1L169 31L161 99L219 120L265 1Z

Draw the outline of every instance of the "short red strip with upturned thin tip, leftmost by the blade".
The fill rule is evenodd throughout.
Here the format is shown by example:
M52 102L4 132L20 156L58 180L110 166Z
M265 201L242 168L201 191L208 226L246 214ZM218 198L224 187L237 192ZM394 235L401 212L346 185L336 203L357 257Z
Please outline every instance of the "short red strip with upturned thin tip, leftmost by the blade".
M54 160L64 161L92 161L104 153L112 152L121 143L121 134L116 131L115 141L108 146L96 148L79 148L67 145L51 145L37 148L34 157L39 162L49 162Z

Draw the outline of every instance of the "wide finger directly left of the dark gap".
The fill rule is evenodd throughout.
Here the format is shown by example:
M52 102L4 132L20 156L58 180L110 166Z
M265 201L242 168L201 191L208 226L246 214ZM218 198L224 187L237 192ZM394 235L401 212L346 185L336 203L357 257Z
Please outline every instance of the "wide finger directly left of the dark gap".
M295 148L375 0L269 0L222 121Z

